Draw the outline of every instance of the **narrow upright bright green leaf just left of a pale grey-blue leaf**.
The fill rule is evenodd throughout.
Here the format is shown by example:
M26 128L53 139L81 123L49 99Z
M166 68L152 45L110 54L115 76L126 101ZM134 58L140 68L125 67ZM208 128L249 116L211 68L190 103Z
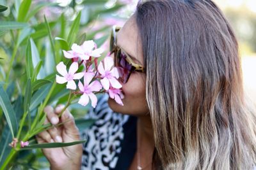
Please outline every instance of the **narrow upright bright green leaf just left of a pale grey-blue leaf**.
M32 78L33 74L33 63L32 63L32 53L31 53L31 41L28 39L27 48L26 48L26 73L28 78Z

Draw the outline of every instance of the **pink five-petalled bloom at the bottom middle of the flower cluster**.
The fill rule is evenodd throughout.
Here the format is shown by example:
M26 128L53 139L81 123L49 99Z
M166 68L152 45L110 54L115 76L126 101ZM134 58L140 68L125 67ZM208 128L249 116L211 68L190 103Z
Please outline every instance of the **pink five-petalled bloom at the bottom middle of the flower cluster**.
M95 108L97 105L97 97L95 94L93 94L93 92L99 92L102 89L102 86L100 85L99 81L92 81L94 74L95 73L84 73L84 85L81 83L81 81L78 83L79 90L83 92L83 95L80 97L78 103L82 106L86 106L89 103L89 98L92 101L93 108Z

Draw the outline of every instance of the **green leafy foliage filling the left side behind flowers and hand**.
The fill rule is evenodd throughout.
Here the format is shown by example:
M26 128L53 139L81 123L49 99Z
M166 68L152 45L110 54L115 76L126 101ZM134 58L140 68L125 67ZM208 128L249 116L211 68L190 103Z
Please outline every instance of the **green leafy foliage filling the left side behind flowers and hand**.
M111 2L84 0L63 6L40 0L0 1L0 169L42 169L49 164L38 148L84 143L36 144L35 134L51 128L43 125L44 107L68 100L65 85L55 81L56 64L68 64L62 50L92 38L104 48L111 29L104 21L124 8ZM83 119L86 108L74 104L70 109L81 131L93 123ZM11 148L13 138L31 145Z

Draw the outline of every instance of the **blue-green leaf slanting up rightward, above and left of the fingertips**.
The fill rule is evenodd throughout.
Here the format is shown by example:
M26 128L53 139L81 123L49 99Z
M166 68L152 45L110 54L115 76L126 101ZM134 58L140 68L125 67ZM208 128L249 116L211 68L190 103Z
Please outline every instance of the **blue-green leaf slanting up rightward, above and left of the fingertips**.
M50 89L51 89L51 85L44 85L41 89L36 91L31 99L29 110L35 109L36 106L38 106L38 104L42 103L42 101L44 101Z

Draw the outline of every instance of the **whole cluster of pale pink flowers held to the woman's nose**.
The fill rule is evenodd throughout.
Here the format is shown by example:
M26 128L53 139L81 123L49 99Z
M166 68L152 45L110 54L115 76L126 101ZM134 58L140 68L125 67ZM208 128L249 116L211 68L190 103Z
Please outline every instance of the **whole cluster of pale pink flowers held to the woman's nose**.
M73 44L70 51L63 50L67 59L72 60L68 71L67 66L60 62L56 69L56 82L67 83L67 89L76 90L78 81L78 91L81 94L78 101L82 106L86 106L91 101L93 108L97 105L97 93L108 93L109 97L115 99L116 103L124 105L122 100L122 85L117 80L119 78L118 69L114 67L113 59L107 55L99 62L102 48L97 48L93 40L84 41L83 45ZM80 67L83 67L82 71ZM83 78L83 81L81 79ZM83 82L83 83L82 83Z

